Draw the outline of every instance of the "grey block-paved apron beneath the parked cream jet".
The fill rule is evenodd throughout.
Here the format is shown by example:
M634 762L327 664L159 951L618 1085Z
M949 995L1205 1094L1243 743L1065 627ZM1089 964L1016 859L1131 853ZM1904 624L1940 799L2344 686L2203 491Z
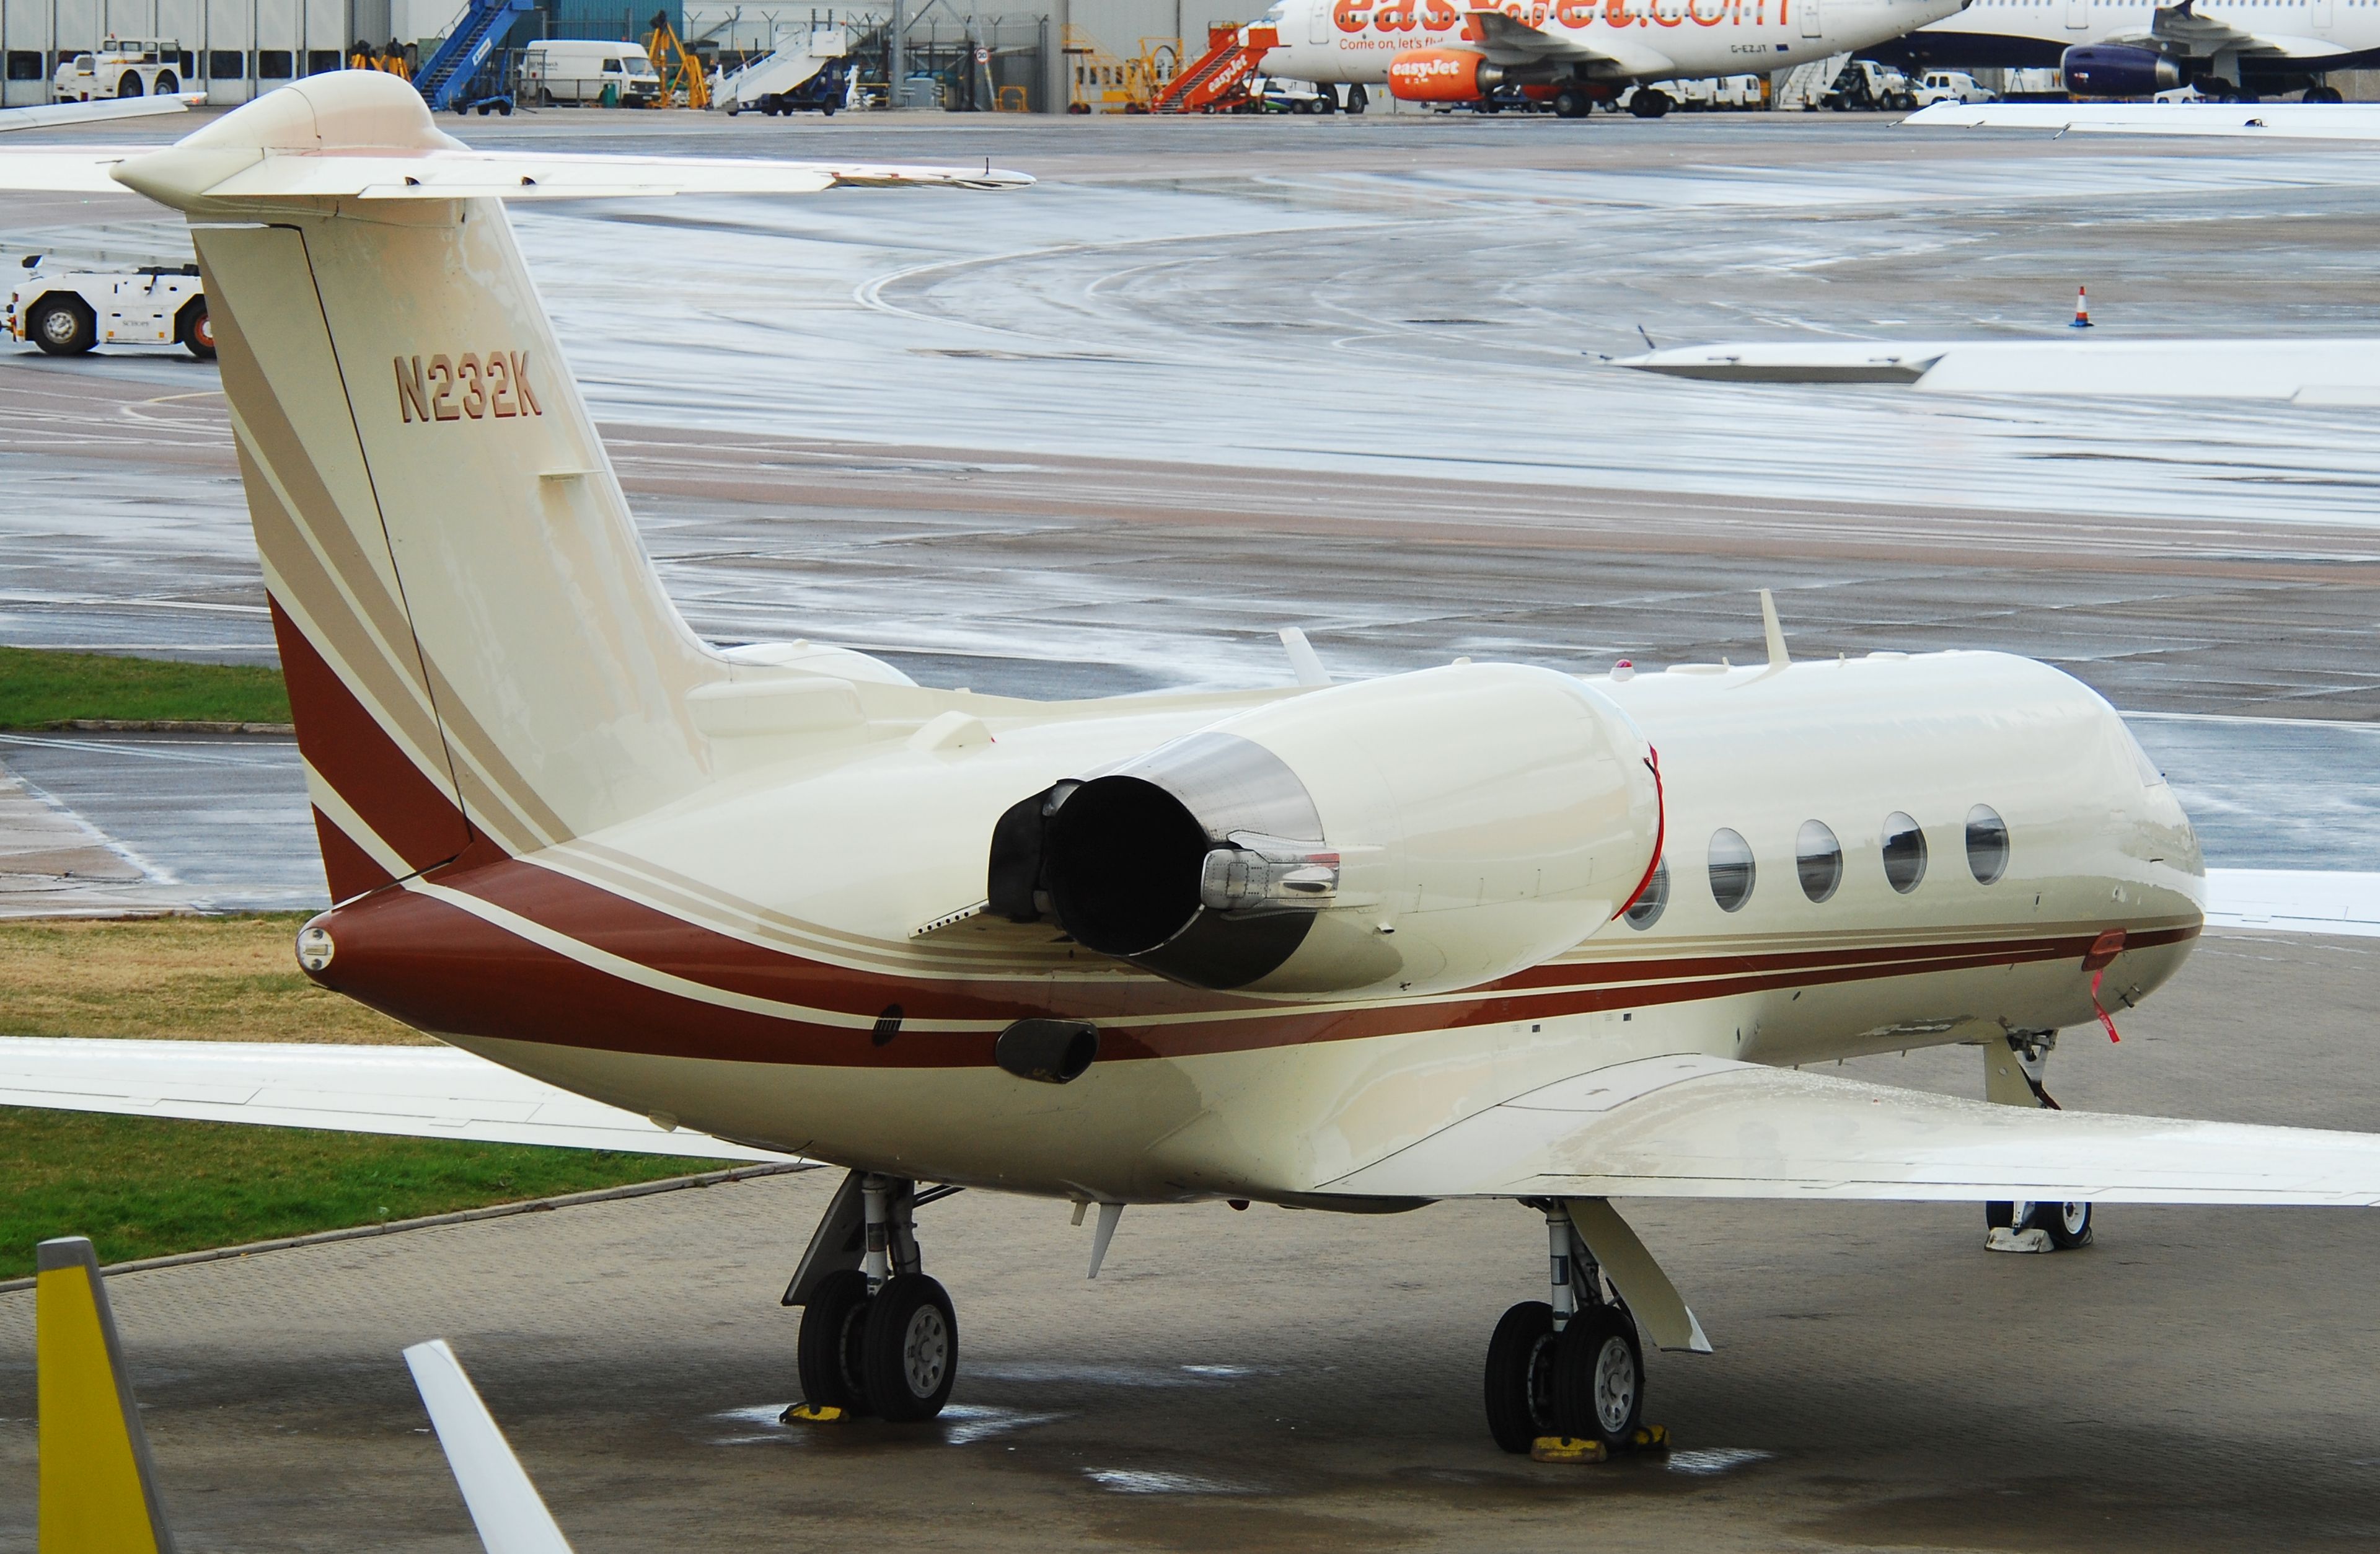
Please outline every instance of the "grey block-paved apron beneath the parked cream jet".
M2068 1107L2370 1128L2370 940L2213 935L2049 1064ZM1852 1064L1975 1095L1975 1052ZM1623 1204L1716 1354L1649 1361L1666 1461L1497 1452L1478 1366L1542 1297L1511 1204L919 1216L959 1311L928 1428L795 1430L778 1307L831 1173L112 1280L183 1549L476 1549L397 1359L452 1340L583 1554L652 1549L2368 1549L2380 1216ZM33 1547L31 1295L0 1295L0 1549Z

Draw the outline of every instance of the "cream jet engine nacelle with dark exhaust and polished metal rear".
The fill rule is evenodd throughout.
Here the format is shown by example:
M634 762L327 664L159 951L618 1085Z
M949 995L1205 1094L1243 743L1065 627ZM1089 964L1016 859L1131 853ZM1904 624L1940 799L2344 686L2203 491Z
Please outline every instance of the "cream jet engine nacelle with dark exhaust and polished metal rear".
M990 907L1195 988L1449 992L1609 923L1659 845L1626 712L1549 669L1454 664L1057 783L1002 816Z

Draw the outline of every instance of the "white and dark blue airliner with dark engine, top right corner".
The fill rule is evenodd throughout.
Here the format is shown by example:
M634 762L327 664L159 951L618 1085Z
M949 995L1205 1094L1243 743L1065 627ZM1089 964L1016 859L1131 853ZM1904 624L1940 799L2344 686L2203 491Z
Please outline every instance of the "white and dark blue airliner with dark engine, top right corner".
M2078 98L2147 98L2197 86L2218 100L2304 90L2306 102L2337 102L2337 88L2323 76L2380 62L2380 7L2356 0L1975 0L1878 55L1914 69L2056 64Z

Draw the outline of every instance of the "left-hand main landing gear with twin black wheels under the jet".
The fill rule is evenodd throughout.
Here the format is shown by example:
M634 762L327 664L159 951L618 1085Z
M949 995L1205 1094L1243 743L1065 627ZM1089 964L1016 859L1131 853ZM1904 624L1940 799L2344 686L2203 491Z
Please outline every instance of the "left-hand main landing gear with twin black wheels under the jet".
M912 1180L859 1171L843 1180L785 1290L785 1304L802 1307L802 1402L788 1421L914 1423L950 1402L959 1318L923 1271L914 1226L916 1207L947 1192L957 1188L919 1195Z

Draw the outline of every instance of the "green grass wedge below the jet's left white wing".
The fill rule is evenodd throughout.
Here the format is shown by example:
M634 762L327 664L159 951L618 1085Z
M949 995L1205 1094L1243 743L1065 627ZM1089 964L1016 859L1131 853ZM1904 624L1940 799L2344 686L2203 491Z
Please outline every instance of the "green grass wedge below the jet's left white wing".
M0 1107L0 1278L88 1235L102 1264L716 1171L719 1161Z

